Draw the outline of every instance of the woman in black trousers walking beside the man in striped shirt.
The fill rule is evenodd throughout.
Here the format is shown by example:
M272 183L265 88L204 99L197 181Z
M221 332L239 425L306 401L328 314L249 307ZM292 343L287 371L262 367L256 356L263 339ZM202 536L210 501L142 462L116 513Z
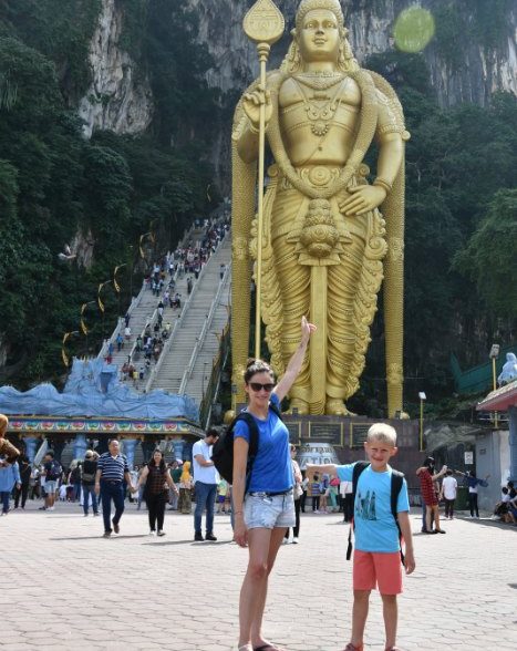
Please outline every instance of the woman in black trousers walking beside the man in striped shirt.
M143 469L138 483L136 484L136 490L139 485L144 483L144 499L147 503L149 533L154 536L157 527L157 535L165 536L164 518L168 488L172 488L175 493L177 493L178 489L165 464L164 454L158 448L154 451L153 458Z

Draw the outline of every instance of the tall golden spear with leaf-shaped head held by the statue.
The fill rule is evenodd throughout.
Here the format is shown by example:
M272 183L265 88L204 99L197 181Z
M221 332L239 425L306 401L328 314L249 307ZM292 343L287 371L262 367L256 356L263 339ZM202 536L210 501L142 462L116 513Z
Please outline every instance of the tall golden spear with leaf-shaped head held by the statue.
M258 0L242 22L248 39L257 44L260 63L259 90L266 101L266 64L271 45L283 34L285 21L278 7L271 0ZM259 161L258 161L258 203L257 203L257 267L255 273L256 314L255 314L255 356L260 358L260 292L262 289L262 223L263 223L263 168L266 148L266 104L260 104L259 122Z

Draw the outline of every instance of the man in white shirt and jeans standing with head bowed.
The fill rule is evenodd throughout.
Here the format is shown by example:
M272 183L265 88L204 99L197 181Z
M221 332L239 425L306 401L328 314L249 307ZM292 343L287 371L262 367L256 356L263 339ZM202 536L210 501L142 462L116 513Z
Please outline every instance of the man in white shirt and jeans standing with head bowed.
M214 536L214 504L217 494L217 471L211 461L211 446L219 438L217 430L208 430L204 441L193 447L196 510L194 512L194 540L217 540ZM206 507L206 536L203 538L201 517Z

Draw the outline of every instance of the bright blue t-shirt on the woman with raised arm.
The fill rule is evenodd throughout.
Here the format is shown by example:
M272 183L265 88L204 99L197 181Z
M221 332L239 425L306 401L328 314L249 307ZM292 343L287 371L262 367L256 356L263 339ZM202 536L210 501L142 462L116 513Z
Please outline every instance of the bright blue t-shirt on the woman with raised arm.
M271 403L280 406L278 396L271 394ZM269 411L266 420L257 418L259 444L251 472L248 493L281 493L293 485L289 431L276 413ZM234 438L249 443L249 428L244 421L237 421Z

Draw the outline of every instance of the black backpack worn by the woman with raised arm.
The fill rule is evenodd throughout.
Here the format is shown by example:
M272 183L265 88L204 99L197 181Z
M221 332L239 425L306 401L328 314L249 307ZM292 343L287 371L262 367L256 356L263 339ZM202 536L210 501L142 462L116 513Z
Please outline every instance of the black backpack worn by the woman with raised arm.
M277 405L269 403L269 409L277 414L281 420L280 410ZM219 475L228 482L234 483L234 430L236 423L244 421L249 430L249 448L248 448L248 464L246 466L246 489L251 478L251 471L254 467L255 457L257 456L259 445L259 430L255 417L249 412L240 412L229 424L226 432L224 432L214 444L211 451L211 461L216 466Z

